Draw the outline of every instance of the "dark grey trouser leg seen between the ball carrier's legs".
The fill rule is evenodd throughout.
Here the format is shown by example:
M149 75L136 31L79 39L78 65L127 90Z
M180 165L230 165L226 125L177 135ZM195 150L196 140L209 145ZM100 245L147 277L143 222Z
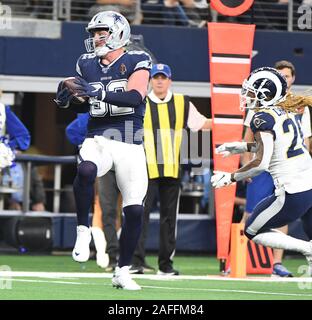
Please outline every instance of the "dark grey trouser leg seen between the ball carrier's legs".
M98 179L100 205L103 213L104 234L107 242L106 253L110 263L117 261L119 242L116 232L119 189L115 172L110 170Z

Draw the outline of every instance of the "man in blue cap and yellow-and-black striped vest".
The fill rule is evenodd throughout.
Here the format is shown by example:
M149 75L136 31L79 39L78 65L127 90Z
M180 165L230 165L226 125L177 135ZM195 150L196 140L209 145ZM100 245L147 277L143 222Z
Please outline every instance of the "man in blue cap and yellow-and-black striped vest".
M134 253L130 271L144 273L144 268L148 267L145 261L145 241L149 214L155 195L159 191L158 274L178 275L179 272L173 268L172 258L176 246L177 209L181 184L179 155L182 137L180 135L186 127L192 131L210 130L211 119L201 115L190 102L188 96L173 94L170 91L171 69L168 65L155 64L153 66L151 86L152 91L147 97L144 118L144 146L149 184L144 207L142 234ZM171 133L168 133L167 126L175 133L174 141L171 140ZM161 138L157 132L162 133ZM165 150L165 152L159 154L158 150ZM170 158L170 155L173 158Z

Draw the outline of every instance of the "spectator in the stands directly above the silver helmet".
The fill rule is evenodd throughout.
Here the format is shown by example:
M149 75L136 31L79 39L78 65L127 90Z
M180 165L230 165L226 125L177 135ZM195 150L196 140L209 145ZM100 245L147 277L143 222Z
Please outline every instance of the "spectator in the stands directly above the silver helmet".
M88 16L92 18L101 11L121 13L130 24L141 23L140 0L96 0L90 8Z

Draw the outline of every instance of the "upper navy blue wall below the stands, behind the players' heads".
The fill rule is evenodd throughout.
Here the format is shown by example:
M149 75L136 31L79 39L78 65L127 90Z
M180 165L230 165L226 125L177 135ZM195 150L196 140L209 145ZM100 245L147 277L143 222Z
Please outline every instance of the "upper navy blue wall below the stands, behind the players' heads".
M73 75L77 58L85 52L84 27L81 23L64 22L59 40L0 37L0 74ZM132 33L142 34L146 47L157 60L172 67L175 81L209 81L207 29L134 26ZM297 69L296 84L310 84L311 40L310 32L257 31L254 50L258 54L252 68L290 60Z

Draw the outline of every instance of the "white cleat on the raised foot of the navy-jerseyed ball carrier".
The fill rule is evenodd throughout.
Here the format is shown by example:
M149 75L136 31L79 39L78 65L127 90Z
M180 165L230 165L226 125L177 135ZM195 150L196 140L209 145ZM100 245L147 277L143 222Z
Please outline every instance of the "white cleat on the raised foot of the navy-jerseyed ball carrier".
M90 228L80 225L77 227L77 239L72 252L72 257L77 262L86 262L90 257Z

